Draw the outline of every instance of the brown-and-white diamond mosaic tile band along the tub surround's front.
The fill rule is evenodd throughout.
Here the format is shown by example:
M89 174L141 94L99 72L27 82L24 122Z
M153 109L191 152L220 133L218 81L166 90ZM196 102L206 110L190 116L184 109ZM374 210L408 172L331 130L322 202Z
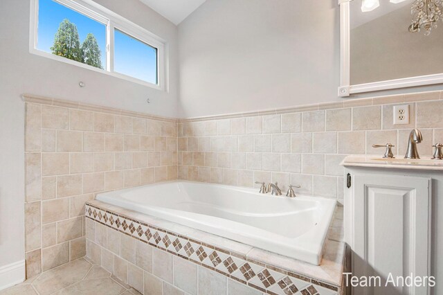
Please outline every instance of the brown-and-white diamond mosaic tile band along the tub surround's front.
M267 294L335 295L338 287L300 276L291 271L265 265L226 249L187 238L129 217L105 211L91 204L85 207L87 218L120 231L152 247L204 266L239 283Z

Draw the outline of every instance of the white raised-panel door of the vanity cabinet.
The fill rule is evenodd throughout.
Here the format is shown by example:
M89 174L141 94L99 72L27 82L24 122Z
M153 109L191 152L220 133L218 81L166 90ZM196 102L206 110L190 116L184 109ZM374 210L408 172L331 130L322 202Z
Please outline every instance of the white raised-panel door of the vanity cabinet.
M354 275L380 276L383 285L354 294L426 294L426 287L385 282L428 274L430 186L426 177L354 175Z

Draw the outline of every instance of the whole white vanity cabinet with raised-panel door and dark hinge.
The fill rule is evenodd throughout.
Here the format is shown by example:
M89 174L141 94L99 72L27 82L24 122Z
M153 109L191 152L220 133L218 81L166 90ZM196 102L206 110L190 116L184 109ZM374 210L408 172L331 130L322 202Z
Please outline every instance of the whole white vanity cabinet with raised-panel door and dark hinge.
M370 278L352 287L352 294L443 294L443 162L411 168L362 158L342 163L352 276ZM434 287L429 276L435 276ZM414 282L418 277L426 283Z

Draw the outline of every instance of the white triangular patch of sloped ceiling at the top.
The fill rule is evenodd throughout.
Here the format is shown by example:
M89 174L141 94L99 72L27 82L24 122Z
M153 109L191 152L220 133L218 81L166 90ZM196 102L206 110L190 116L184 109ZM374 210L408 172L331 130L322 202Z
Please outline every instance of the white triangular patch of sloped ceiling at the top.
M206 0L140 0L147 6L178 25Z

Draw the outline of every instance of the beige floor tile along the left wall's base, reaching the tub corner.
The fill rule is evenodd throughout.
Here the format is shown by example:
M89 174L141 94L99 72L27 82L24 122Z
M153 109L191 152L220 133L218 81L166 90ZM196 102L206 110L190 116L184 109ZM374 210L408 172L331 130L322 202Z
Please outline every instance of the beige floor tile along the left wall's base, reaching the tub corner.
M75 260L44 272L33 285L40 295L53 294L60 289L78 283L86 276L91 267L91 263L84 259Z

